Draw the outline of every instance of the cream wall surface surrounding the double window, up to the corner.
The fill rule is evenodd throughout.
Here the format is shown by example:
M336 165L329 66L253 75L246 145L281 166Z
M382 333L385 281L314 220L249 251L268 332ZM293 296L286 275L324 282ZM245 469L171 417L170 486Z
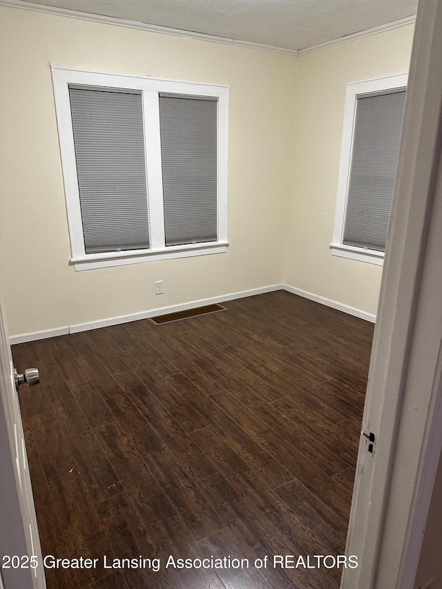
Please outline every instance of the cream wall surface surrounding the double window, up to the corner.
M0 8L0 46L0 281L10 334L281 282L293 57L13 8ZM227 253L80 272L68 265L49 64L229 84ZM164 280L161 296L155 280Z

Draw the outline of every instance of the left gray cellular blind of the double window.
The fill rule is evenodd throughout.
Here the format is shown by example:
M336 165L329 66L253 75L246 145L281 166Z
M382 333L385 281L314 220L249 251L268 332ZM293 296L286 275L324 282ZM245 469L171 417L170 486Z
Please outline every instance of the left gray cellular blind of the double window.
M148 248L141 94L69 93L86 253Z

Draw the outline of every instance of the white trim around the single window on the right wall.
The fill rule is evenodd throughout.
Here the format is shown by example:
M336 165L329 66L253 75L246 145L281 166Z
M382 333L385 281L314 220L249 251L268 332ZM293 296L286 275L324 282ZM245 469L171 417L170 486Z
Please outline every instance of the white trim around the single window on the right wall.
M347 208L347 192L349 185L350 165L352 162L354 122L356 119L356 102L358 96L387 92L407 87L408 74L394 74L347 84L345 96L343 140L340 148L340 166L338 193L336 197L336 215L332 243L329 244L332 255L341 258L359 260L369 264L383 265L385 253L374 249L354 247L343 244L345 212Z

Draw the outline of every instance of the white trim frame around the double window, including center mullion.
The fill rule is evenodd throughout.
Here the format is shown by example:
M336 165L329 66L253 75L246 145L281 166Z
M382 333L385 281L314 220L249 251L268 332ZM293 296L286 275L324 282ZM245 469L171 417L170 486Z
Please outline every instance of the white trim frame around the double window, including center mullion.
M97 269L122 264L188 258L227 251L227 142L229 121L229 87L198 82L174 81L151 77L98 73L51 66L55 110L59 130L66 212L71 258L76 270ZM84 247L83 224L75 164L75 148L68 84L105 86L142 90L150 249L88 254ZM160 93L212 97L218 100L218 240L216 242L166 247L162 205L162 166L160 150ZM147 164L146 164L147 165ZM151 222L151 218L154 219Z

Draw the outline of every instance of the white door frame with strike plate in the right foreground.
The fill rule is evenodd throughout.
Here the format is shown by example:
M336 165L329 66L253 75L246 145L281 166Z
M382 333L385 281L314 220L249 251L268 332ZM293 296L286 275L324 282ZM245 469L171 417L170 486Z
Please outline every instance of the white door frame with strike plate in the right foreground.
M420 1L363 418L374 441L361 437L347 537L359 566L342 589L412 589L435 523L425 530L442 447L441 62L442 0ZM421 589L442 587L437 532Z

